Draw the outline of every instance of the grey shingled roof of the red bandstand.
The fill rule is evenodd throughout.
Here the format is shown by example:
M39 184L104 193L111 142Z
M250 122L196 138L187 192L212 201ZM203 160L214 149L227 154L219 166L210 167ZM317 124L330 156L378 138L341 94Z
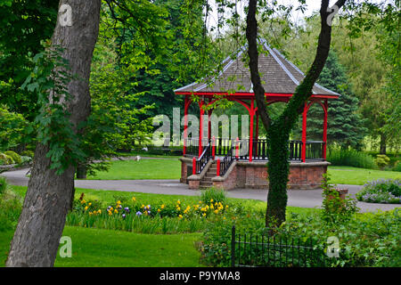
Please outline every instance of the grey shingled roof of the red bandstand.
M259 53L258 68L266 94L294 94L296 87L305 77L304 73L275 48L266 42L263 44L266 53ZM235 59L228 57L223 61L224 68L217 77L212 77L206 83L194 82L178 88L176 94L221 94L241 93L253 94L250 81L250 69L243 62L246 46L241 48ZM234 92L233 92L234 91ZM321 85L315 84L313 95L316 97L338 98L337 94Z

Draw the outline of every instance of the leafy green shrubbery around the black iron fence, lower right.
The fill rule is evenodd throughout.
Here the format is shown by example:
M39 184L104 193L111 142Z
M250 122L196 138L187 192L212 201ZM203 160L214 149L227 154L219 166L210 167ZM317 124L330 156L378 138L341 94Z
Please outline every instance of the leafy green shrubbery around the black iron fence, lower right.
M230 221L230 222L228 222ZM205 229L201 253L204 263L213 266L230 266L231 228L235 223L236 232L247 234L247 240L266 233L264 219L256 215L237 217L208 223ZM399 210L375 214L357 214L347 224L327 224L318 214L308 216L292 215L287 222L275 230L270 240L311 240L314 248L326 250L329 237L340 242L340 256L326 258L327 266L395 266L401 265L399 242L401 231ZM259 239L260 240L260 239ZM270 244L274 247L274 245ZM241 261L247 260L250 244L242 246ZM265 248L266 250L266 248ZM285 251L285 250L284 250ZM258 257L255 255L255 257ZM279 257L279 256L276 256ZM250 259L249 259L250 260ZM272 259L271 259L272 260ZM250 260L252 262L252 260Z

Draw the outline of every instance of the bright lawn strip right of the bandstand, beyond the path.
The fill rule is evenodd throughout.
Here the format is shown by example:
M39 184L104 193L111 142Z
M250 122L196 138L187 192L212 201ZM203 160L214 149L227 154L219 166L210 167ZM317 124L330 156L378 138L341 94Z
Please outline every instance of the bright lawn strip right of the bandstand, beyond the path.
M376 179L401 179L401 172L381 171L356 167L329 167L331 182L336 184L364 185Z

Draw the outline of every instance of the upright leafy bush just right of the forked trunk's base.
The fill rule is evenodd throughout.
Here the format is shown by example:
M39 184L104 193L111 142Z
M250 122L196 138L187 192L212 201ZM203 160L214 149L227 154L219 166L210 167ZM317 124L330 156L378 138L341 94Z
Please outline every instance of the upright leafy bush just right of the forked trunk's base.
M328 224L341 224L348 222L359 210L356 200L340 197L340 190L330 183L330 176L323 175L322 181L323 211L322 220Z

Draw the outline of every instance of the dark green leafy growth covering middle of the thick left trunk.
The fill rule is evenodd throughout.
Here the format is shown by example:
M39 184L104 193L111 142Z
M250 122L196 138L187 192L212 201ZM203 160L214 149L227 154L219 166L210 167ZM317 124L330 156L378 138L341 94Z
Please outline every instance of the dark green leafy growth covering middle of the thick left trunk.
M48 146L46 157L52 161L50 168L60 175L67 167L77 165L85 153L81 151L78 134L69 119L71 96L67 85L74 75L70 74L69 62L61 56L61 48L50 47L48 43L45 46L45 52L34 57L36 67L21 88L37 94L40 106L34 122L37 141Z

